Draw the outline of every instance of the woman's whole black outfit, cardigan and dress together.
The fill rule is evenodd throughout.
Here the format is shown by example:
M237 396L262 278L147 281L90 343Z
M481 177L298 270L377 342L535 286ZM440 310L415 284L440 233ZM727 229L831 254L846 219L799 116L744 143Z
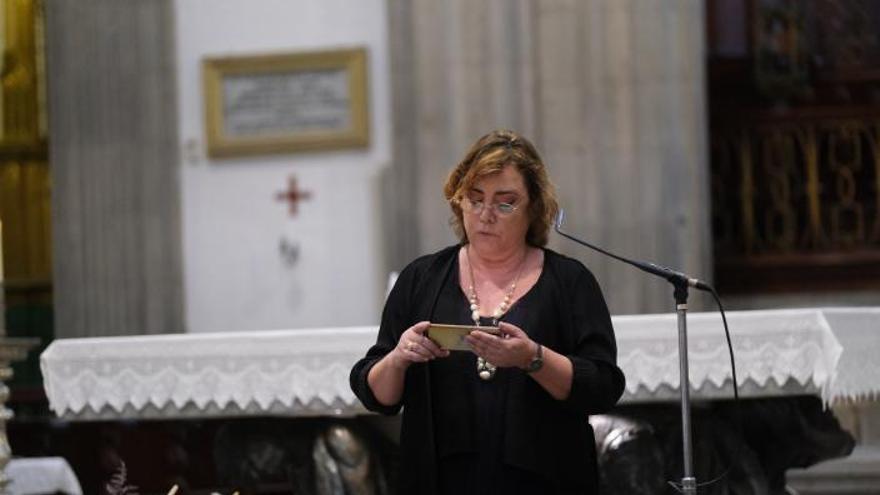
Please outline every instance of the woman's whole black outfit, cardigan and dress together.
M567 399L554 399L518 368L499 368L483 381L476 356L461 351L411 365L399 404L385 406L370 390L370 368L413 324L473 323L459 286L458 249L422 257L401 273L376 345L351 373L352 389L368 409L395 414L403 408L399 493L595 493L587 414L612 407L624 379L604 298L576 260L545 250L538 281L502 317L571 360Z

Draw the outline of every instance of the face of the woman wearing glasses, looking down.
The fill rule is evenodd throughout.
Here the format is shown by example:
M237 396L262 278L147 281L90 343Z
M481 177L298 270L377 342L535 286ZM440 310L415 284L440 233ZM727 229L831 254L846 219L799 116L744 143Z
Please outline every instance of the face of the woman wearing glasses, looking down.
M475 249L502 254L525 245L529 194L516 167L508 165L477 180L465 191L461 206L464 230Z

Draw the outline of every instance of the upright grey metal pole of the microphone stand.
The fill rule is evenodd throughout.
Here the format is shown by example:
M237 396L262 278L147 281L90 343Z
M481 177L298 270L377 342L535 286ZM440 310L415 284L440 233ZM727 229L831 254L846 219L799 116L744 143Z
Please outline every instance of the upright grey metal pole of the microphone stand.
M687 357L687 283L682 280L671 281L675 287L675 312L678 316L678 364L679 389L681 390L681 441L684 455L684 473L681 478L681 493L696 495L697 480L694 478L693 452L691 451L691 402L690 375Z

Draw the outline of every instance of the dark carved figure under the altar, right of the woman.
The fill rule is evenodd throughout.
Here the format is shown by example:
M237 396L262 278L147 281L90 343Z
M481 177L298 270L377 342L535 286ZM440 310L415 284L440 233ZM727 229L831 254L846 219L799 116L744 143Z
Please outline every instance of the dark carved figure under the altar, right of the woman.
M732 401L692 408L693 462L698 483L715 480L730 468L722 479L701 486L701 494L784 495L788 469L846 456L855 446L852 436L813 396L743 400L741 409L742 433L737 428ZM617 414L625 416L591 420L606 425L601 432L596 427L606 493L678 493L669 483L658 488L653 452L659 446L664 464L662 477L679 482L683 463L679 408L622 407ZM656 445L646 438L652 436L651 431ZM627 473L627 466L632 472Z

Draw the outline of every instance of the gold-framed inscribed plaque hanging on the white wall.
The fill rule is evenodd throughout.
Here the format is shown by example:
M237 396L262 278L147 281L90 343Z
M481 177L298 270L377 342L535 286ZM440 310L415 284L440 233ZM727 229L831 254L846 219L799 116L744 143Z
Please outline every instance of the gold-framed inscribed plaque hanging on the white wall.
M363 48L207 58L202 76L213 158L369 144Z

